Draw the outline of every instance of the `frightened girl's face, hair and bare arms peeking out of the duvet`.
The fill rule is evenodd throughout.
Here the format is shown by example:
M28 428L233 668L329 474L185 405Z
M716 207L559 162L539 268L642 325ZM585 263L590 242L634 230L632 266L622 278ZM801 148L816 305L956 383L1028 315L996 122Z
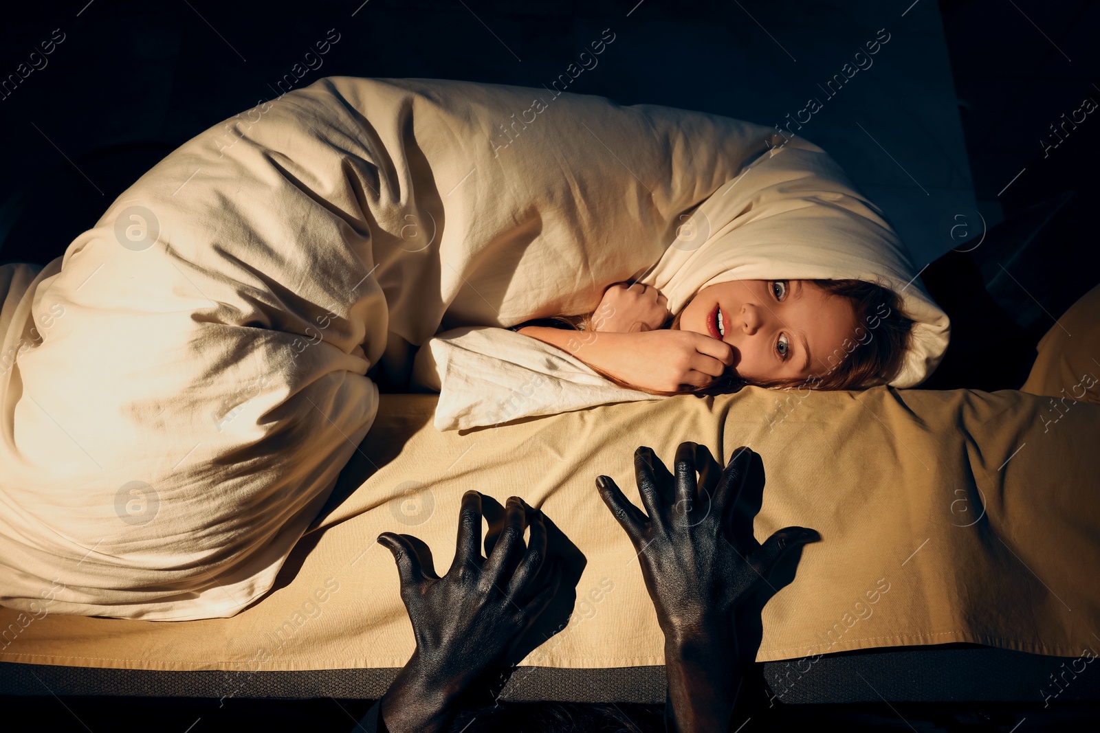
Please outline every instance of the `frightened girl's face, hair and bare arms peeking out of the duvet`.
M730 280L703 288L671 316L657 288L616 284L592 314L513 330L652 395L745 385L858 389L889 381L902 366L913 321L899 301L856 279ZM554 322L590 335L579 340Z

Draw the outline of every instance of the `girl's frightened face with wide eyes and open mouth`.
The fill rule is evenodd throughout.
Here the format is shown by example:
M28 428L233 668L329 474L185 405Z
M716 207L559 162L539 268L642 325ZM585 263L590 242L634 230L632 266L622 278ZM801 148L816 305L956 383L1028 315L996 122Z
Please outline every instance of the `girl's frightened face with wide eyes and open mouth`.
M827 373L834 352L845 354L856 314L847 298L810 280L732 280L700 290L679 327L733 346L743 379L800 380Z

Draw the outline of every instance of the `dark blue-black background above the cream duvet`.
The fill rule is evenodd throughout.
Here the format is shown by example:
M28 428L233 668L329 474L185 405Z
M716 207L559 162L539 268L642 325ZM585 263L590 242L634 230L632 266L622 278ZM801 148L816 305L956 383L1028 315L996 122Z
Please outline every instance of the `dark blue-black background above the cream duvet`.
M45 57L44 68L0 99L0 262L46 263L62 254L156 160L207 127L274 97L277 80L329 29L340 34L340 42L299 87L322 76L352 75L538 88L563 73L602 29L610 26L617 34L608 48L613 53L603 54L598 70L582 74L571 92L767 124L796 110L804 92L836 71L834 67L872 38L879 25L890 26L895 37L890 51L894 58L887 63L904 66L900 55L914 44L938 42L922 36L927 23L939 23L938 15L970 164L969 171L961 167L953 176L964 188L970 178L987 225L1063 190L1077 191L1078 201L1091 201L1096 191L1098 135L1092 127L1100 129L1100 123L1092 118L1100 115L1089 115L1045 158L1040 144L1050 137L1048 125L1077 109L1084 97L1094 95L1100 101L1100 89L1093 86L1100 84L1100 7L1088 0L942 0L938 8L934 0L919 0L909 10L912 0L888 0L873 4L873 12L851 12L809 36L799 27L801 15L813 24L814 9L835 18L845 12L837 10L845 3L360 2L64 0L4 7L0 78L15 73L54 29L61 29L65 41ZM902 11L908 16L899 16ZM730 47L730 40L737 47ZM788 48L801 64L791 63ZM919 53L911 55L928 64L928 78L936 77L930 88L942 92L939 69ZM921 70L905 73L912 77ZM763 76L769 84L754 87L746 81ZM774 78L785 81L770 82ZM857 168L862 160L856 156L876 155L900 184L911 185L848 118L862 118L883 148L914 174L928 157L928 140L913 138L911 127L904 136L891 137L890 118L872 125L868 118L873 120L876 100L860 84L864 89L844 92L864 93L858 105L844 99L829 102L818 113L825 121L815 122L820 126L805 134L854 169L857 184L869 181L860 180L862 170ZM752 99L745 99L748 96ZM912 101L913 107L921 103ZM901 127L898 116L894 125ZM858 153L845 148L847 140L837 142L832 132L837 127L855 131L845 135L860 146ZM917 198L914 204L921 203ZM938 218L946 211L926 215ZM1090 223L1081 224L1082 234L1090 234ZM933 258L921 247L916 255L917 267Z

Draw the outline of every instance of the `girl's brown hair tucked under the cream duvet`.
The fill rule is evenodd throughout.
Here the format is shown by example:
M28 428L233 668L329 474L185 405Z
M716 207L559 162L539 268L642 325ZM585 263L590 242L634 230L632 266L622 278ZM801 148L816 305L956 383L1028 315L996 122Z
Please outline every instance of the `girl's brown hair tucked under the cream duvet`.
M810 280L828 296L846 298L855 312L855 326L850 338L825 360L825 374L811 374L805 379L757 379L746 381L730 368L704 387L683 388L674 392L644 389L623 381L592 367L609 381L650 395L725 395L736 392L746 385L768 388L801 387L805 389L838 390L860 389L868 382L887 382L898 375L905 360L913 337L913 320L901 310L901 298L893 290L865 280ZM670 318L661 327L673 329L680 323L680 313ZM593 314L559 315L562 322L579 331L593 330ZM646 329L642 325L642 329Z

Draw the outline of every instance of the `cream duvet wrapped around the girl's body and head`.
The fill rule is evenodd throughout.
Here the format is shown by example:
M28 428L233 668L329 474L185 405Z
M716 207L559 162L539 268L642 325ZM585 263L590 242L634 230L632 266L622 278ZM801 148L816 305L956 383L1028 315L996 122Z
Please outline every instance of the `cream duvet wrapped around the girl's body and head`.
M685 235L692 216L705 236ZM320 79L185 143L41 271L0 268L0 603L240 612L370 429L380 363L408 376L415 347L482 329L474 400L534 364L552 379L520 412L618 401L632 390L501 326L592 312L631 276L673 308L722 278L886 278L923 333L913 384L946 319L917 282L901 288L912 270L820 148L779 147L761 125L547 89ZM554 388L563 399L539 403Z

